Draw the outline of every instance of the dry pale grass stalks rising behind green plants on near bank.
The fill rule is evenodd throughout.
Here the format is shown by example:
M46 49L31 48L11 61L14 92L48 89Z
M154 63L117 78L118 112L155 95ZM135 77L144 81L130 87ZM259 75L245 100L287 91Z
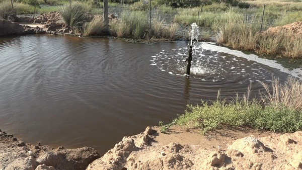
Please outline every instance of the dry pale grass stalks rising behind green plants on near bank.
M284 84L279 83L279 78L274 77L271 85L263 83L266 94L261 94L263 103L275 107L285 106L297 111L302 110L302 82L293 77L288 77Z

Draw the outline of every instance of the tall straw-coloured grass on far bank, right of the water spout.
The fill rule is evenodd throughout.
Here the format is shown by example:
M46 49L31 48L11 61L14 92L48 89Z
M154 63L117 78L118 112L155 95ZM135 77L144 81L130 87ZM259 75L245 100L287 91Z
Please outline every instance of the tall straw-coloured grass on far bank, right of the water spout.
M212 25L219 44L234 49L255 51L258 54L281 55L291 58L301 58L301 34L285 28L268 29L261 32L261 20L257 15L244 17L239 13L229 11L215 19Z

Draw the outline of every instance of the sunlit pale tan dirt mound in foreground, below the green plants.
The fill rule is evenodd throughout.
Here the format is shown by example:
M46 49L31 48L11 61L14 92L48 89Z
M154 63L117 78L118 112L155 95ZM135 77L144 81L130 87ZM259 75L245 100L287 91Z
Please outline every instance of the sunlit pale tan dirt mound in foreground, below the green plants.
M225 134L222 134L218 131L202 136L195 132L175 130L166 135L158 134L147 127L144 133L124 137L104 156L93 161L87 169L302 168L302 132L268 135L254 131L257 137L250 135L235 140L236 137L241 137L235 134L237 132L225 131ZM201 144L171 142L163 145L171 136L183 136L177 141L185 141L186 135L190 136L189 138L200 138ZM164 141L160 136L170 137ZM223 143L224 139L230 143ZM193 143L196 142L194 138L192 140Z

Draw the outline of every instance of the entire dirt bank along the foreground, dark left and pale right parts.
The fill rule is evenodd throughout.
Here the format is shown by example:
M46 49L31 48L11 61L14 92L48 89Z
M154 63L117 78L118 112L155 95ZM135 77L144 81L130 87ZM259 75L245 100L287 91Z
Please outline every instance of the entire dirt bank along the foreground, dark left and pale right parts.
M89 164L90 163L90 164ZM302 169L302 131L159 127L124 137L102 157L90 147L53 149L0 132L0 169Z

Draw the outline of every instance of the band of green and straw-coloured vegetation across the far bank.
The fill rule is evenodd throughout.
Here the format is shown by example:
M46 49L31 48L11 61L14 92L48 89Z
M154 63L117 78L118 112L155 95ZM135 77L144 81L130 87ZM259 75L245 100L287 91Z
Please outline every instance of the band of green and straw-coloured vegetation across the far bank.
M14 0L14 9L12 9L9 0L0 0L0 18L13 21L17 14L33 13L34 2L35 0ZM37 13L60 11L67 25L80 26L82 32L84 23L89 21L81 18L79 13L103 14L103 3L100 0L73 0L73 6L78 6L69 9L69 19L66 18L67 0L38 0L37 2ZM151 28L148 26L148 10L150 10L148 3L147 0L110 1L109 9L114 7L118 11L109 10L109 13L117 13L118 18L111 21L109 32L117 37L175 40L178 37L176 30L179 28L189 30L189 26L195 22L201 27L200 39L215 39L219 44L263 55L302 58L302 49L299 48L302 45L301 35L285 30L263 32L272 26L302 21L301 0L265 2L261 0L153 0ZM264 4L266 6L262 22ZM159 19L157 16L163 17ZM101 23L90 27L92 26L100 26L102 29Z

